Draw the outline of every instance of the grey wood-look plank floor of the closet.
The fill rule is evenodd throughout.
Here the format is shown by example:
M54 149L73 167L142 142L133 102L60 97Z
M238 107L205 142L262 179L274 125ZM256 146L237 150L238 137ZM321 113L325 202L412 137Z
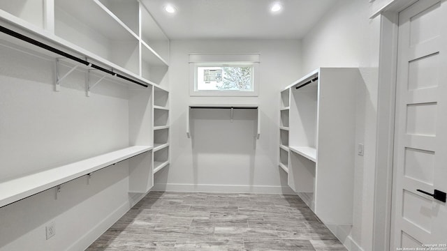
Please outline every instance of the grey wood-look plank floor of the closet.
M87 250L346 248L296 195L149 192Z

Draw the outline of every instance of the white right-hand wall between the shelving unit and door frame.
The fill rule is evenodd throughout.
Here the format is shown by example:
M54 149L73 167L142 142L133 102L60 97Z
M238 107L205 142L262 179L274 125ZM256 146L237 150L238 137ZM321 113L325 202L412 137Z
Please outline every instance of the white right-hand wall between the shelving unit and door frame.
M365 155L356 155L353 227L345 245L365 251L372 249L380 32L380 17L369 20L369 11L367 1L337 1L302 40L303 73L358 67L364 80L357 86L356 144L365 144Z

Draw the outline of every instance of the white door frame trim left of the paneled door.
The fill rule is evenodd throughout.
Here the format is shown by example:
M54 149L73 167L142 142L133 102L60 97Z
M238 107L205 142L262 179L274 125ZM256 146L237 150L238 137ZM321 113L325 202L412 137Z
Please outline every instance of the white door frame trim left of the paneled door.
M416 1L389 1L387 6L371 17L381 15L372 237L372 250L374 251L390 249L398 20L400 11Z

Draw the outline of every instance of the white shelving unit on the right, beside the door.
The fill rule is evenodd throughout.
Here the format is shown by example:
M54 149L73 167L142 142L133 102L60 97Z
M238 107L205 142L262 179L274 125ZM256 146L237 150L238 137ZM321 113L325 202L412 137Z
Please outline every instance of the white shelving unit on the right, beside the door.
M358 68L319 68L281 91L279 166L336 236L352 225L359 82Z

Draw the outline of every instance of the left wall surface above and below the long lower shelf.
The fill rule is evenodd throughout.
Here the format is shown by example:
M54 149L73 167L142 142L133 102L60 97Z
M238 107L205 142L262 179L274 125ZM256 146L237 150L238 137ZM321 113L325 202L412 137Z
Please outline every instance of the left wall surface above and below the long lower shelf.
M0 180L129 146L126 86L101 82L87 98L75 70L56 92L54 61L3 45L0 54ZM83 250L129 210L128 190L124 161L4 206L0 250Z

